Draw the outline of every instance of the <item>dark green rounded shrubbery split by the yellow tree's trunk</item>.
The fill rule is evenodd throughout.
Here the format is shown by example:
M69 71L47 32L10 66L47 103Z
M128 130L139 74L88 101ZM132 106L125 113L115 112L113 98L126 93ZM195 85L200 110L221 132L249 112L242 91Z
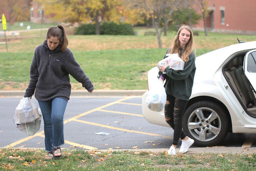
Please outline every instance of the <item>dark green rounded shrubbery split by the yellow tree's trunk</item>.
M95 25L80 25L75 34L96 34ZM106 35L135 35L133 27L127 23L116 24L114 22L105 22L100 25L100 34Z

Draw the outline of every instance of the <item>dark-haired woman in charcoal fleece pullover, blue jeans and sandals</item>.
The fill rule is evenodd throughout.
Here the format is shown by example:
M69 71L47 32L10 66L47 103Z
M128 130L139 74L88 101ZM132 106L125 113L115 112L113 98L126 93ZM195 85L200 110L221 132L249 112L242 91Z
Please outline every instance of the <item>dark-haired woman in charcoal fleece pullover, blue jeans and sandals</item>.
M68 40L62 25L50 27L46 40L34 53L30 82L24 97L35 98L44 119L46 160L61 158L64 144L63 117L71 93L69 74L92 93L94 86L67 48Z

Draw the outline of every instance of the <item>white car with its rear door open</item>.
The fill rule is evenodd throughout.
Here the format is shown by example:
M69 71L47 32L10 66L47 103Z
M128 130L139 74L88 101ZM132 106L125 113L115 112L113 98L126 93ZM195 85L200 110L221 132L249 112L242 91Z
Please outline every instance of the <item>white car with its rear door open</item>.
M159 60L162 60L161 58ZM229 131L256 133L256 41L240 42L198 56L192 94L183 116L183 131L198 146L220 143ZM148 89L158 68L148 72ZM142 112L156 125L170 127L164 110L151 111L143 94Z

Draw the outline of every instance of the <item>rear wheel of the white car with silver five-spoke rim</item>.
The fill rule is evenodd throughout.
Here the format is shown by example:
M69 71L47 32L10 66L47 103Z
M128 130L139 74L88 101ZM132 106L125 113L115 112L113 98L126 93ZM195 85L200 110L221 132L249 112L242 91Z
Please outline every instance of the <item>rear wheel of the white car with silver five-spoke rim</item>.
M214 146L228 134L230 120L221 105L198 101L187 108L183 117L183 131L198 146Z

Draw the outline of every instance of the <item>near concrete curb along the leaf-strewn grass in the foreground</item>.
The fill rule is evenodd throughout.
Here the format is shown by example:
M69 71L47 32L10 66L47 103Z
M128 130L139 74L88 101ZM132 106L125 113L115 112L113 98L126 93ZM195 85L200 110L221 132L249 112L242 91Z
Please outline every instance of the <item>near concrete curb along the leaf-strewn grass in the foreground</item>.
M44 148L15 148L15 149L44 149ZM69 148L63 148L63 150L69 149ZM80 149L78 148L72 148L72 149ZM85 149L86 150L86 149ZM107 151L134 151L134 152L164 152L167 151L168 149L166 148L144 148L144 149L97 149L94 151L102 151L102 152L107 152ZM88 150L90 151L90 150ZM176 150L177 152L179 151L179 148ZM189 150L186 152L186 154L201 154L201 153L217 153L217 154L223 154L223 153L232 153L232 154L252 154L255 153L256 147L248 147L243 148L243 147L195 147L195 148L189 148Z

